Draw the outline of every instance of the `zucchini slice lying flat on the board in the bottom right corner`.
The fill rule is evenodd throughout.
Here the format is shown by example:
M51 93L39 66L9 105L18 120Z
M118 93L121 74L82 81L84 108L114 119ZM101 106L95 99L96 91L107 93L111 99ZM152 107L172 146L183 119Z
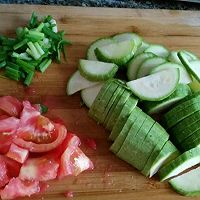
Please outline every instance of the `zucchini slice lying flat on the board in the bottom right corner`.
M184 196L199 196L200 195L200 167L182 174L169 181L172 188Z

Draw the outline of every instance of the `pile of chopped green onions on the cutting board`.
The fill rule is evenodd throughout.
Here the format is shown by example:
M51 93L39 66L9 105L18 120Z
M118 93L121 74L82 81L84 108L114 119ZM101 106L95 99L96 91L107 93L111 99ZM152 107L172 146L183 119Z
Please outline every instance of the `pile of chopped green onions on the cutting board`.
M0 68L4 75L30 85L35 71L45 72L56 60L61 62L61 52L66 57L65 32L58 31L55 19L46 16L39 19L33 12L26 27L16 29L16 37L0 35Z

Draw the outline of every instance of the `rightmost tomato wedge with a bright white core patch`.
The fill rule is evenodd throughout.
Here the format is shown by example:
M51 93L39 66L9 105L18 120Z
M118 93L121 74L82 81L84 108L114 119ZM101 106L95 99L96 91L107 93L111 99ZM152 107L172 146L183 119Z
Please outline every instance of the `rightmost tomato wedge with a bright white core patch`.
M77 176L87 169L93 169L92 161L81 151L80 148L68 146L60 159L58 178L68 175Z

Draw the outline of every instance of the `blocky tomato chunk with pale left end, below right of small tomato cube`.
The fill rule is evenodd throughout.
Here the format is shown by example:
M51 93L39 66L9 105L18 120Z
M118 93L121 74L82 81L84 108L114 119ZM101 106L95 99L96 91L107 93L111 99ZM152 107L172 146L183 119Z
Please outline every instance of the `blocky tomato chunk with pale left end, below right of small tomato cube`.
M21 167L19 178L22 180L53 180L57 176L59 164L53 158L30 158Z

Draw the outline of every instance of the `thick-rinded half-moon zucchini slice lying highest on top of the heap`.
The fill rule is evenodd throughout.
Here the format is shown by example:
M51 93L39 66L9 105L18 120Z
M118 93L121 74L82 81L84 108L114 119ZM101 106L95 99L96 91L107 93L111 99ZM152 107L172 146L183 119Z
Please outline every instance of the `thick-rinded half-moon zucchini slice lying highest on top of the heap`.
M125 65L137 50L133 40L115 42L107 46L95 49L97 58L104 62L115 63L116 65Z

